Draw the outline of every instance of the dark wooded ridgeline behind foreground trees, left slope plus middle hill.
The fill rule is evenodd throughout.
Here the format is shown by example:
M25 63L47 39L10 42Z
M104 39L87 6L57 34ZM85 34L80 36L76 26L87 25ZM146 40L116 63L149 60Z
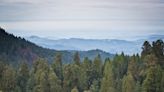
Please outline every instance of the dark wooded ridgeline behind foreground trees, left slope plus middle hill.
M54 60L55 54L60 52L62 54L63 63L71 63L73 61L73 55L76 51L57 51L53 49L43 48L32 42L27 41L24 38L16 37L13 34L7 33L4 29L0 28L0 60L17 64L21 61L26 61L32 64L37 58L45 58L49 62ZM90 59L94 59L98 54L104 60L114 55L106 53L101 50L79 51L80 59L88 56Z

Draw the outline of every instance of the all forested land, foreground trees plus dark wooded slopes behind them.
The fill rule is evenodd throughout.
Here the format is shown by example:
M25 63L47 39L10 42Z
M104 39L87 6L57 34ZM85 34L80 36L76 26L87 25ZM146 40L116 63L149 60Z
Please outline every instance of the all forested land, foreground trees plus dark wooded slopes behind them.
M108 54L98 50L74 53L43 49L0 30L0 92L164 91L162 40L152 44L145 41L141 56L122 53L104 63L102 55ZM98 55L93 59L95 53Z

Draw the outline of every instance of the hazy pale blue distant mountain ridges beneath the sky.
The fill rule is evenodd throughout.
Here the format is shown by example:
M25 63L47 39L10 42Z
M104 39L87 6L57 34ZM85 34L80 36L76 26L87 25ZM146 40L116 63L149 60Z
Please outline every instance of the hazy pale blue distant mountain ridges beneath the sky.
M56 50L92 50L100 49L110 53L126 54L140 53L141 46L145 40L155 41L157 39L164 40L164 35L151 35L144 39L138 39L134 41L118 40L118 39L47 39L37 36L26 37L27 40L50 49Z

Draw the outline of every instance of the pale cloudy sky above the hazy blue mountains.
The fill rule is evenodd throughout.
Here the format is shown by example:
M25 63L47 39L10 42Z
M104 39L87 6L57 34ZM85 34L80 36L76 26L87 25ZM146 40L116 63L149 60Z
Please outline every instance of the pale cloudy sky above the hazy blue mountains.
M164 1L0 0L0 26L18 36L53 39L164 35Z

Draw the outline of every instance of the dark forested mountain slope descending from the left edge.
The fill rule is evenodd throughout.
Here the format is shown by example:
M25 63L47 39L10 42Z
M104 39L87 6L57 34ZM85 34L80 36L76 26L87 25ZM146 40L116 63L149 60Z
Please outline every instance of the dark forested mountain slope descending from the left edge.
M55 50L39 47L24 38L15 37L0 28L0 60L32 63L38 57L52 60Z

